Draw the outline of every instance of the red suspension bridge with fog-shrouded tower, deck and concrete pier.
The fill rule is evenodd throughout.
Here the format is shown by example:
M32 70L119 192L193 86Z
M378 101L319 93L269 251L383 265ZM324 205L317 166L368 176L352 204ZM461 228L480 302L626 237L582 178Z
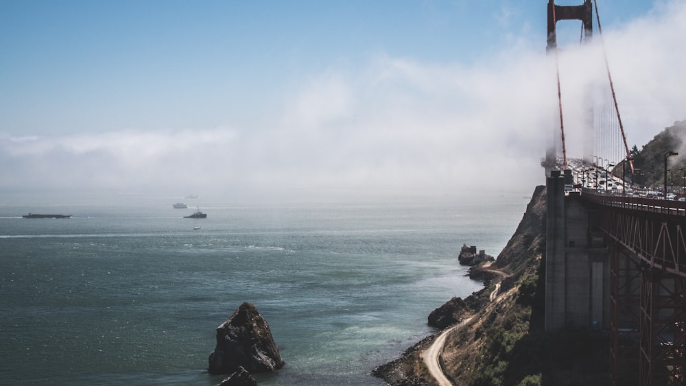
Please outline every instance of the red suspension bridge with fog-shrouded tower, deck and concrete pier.
M556 67L554 138L541 160L547 185L545 328L589 328L610 341L612 385L686 385L686 202L638 189L610 64L589 87L582 158L568 159L558 21L582 22L580 41L604 46L598 4L547 4ZM594 36L595 34L595 36Z

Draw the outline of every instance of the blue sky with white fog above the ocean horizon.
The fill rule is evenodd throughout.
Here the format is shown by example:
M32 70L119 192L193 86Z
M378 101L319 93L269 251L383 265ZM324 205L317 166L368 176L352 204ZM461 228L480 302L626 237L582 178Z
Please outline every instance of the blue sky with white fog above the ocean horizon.
M455 192L511 164L528 190L549 130L546 3L0 0L0 191ZM598 6L642 145L686 119L683 83L657 75L681 71L685 6ZM558 28L582 68L580 23Z

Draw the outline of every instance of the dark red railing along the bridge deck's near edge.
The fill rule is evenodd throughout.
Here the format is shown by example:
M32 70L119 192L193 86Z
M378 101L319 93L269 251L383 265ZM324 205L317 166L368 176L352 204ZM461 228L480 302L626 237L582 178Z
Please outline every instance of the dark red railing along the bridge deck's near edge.
M661 200L658 198L634 197L630 195L612 195L598 193L595 189L582 189L582 197L597 204L660 213L663 215L686 216L686 202Z

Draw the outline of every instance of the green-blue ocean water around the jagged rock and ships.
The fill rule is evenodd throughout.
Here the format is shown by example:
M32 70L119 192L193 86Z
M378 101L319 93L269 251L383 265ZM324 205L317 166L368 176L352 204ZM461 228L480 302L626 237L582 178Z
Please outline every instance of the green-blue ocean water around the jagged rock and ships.
M252 302L286 363L260 385L383 385L432 310L482 288L462 243L497 256L528 200L0 205L0 384L217 385L215 328Z

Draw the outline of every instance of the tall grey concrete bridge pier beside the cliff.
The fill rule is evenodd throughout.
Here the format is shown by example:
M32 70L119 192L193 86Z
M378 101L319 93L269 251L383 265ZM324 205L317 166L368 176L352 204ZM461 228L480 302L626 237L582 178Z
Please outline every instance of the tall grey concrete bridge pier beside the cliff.
M565 178L547 178L545 329L609 327L609 252L597 215Z

